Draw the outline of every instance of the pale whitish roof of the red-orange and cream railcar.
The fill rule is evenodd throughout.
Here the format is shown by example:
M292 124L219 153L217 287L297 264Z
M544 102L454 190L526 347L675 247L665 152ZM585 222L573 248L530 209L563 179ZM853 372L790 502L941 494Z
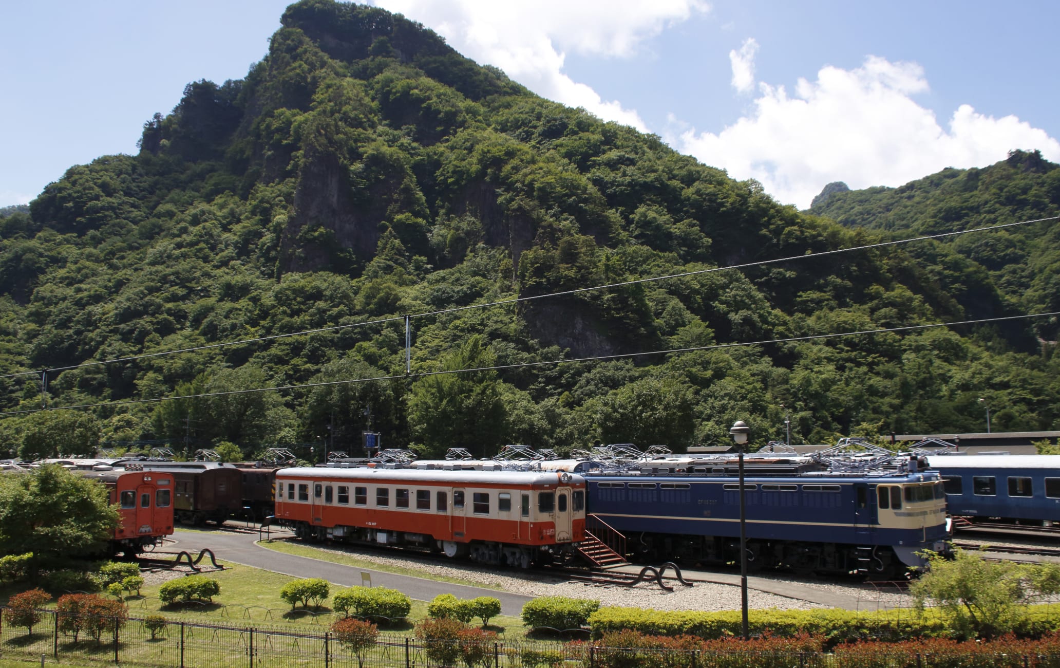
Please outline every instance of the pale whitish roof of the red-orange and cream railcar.
M566 476L566 479L562 479ZM280 469L276 477L311 478L321 480L365 480L418 482L449 482L453 485L556 485L568 482L584 485L585 478L571 473L537 471L424 471L418 469L324 469L297 467Z

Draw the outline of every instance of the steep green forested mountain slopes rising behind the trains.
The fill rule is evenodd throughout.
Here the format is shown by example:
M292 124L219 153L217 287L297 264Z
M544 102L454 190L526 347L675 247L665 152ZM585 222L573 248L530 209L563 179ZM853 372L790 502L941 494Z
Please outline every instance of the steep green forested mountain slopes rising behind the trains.
M378 8L293 4L246 78L190 84L140 145L0 217L0 374L51 369L46 394L39 373L0 379L3 409L317 385L6 418L0 450L228 441L313 443L319 457L325 441L353 452L369 419L386 445L432 454L681 450L727 441L737 419L757 443L777 438L781 405L793 440L824 442L978 430L979 398L995 429L1060 424L1060 364L1036 338L1055 323L1027 321L405 377L405 315L420 374L1034 311L1039 277L1009 266L1030 254L969 247L1045 247L1057 227L450 311L983 221L966 205L942 219L930 204L873 204L890 191L834 192L820 212L844 225L800 213ZM1034 204L950 194L1005 222L1056 210L1055 165L1006 165L991 170L1041 179ZM925 203L957 179L936 180L915 189ZM353 379L386 380L328 384Z

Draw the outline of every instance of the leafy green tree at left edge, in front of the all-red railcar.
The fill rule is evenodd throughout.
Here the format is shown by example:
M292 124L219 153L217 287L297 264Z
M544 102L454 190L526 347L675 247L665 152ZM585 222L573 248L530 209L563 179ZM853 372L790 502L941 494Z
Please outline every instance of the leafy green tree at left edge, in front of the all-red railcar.
M101 551L118 526L102 485L58 465L0 476L0 551L60 560Z

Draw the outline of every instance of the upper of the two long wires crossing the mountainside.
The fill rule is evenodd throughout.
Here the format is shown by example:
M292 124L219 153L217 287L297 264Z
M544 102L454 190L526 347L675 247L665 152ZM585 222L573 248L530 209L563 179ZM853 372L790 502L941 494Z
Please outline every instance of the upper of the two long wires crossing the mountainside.
M958 230L958 231L955 231L955 232L940 232L938 234L928 234L925 236L914 236L912 239L900 239L900 240L888 241L888 242L880 242L878 244L866 244L864 246L854 246L852 248L836 248L834 250L824 250L822 252L810 252L810 253L803 253L801 256L789 256L787 258L777 258L777 259L774 259L774 260L761 260L761 261L758 261L758 262L747 262L747 263L744 263L744 264L735 264L735 265L729 265L729 266L724 266L724 267L712 267L712 268L709 268L709 269L699 269L699 270L695 270L695 271L685 271L685 273L682 273L682 274L669 274L667 276L656 276L656 277L653 277L653 278L634 279L632 281L623 281L621 283L608 283L606 285L594 285L591 287L579 287L579 288L576 288L576 289L568 289L568 291L563 291L563 292L559 292L559 293L549 293L547 295L533 295L533 296L530 296L530 297L513 297L513 298L510 298L510 299L501 299L501 300L498 300L498 301L491 301L491 302L487 302L487 303L471 304L471 305L467 305L467 306L457 306L457 307L454 307L454 309L444 309L442 311L428 311L428 312L424 312L424 313L418 313L418 314L414 314L414 315L409 315L408 317L409 318L422 318L422 317L427 317L427 316L443 315L443 314L447 314L447 313L457 313L457 312L460 312L460 311L470 311L472 309L488 309L490 306L498 306L498 305L501 305L501 304L514 304L514 303L518 303L518 302L523 302L523 301L530 301L530 300L533 300L533 299L544 299L546 297L562 297L564 295L573 295L573 294L577 294L577 293L587 293L587 292L597 291L597 289L607 289L607 288L611 288L611 287L622 287L622 286L625 286L625 285L636 285L638 283L651 283L651 282L655 282L655 281L665 281L665 280L668 280L668 279L675 279L675 278L686 278L686 277L689 277L689 276L697 276L697 275L701 275L701 274L712 274L714 271L727 271L727 270L730 270L730 269L745 269L745 268L749 268L749 267L754 267L754 266L762 266L762 265L766 265L766 264L776 264L776 263L779 263L779 262L788 262L788 261L792 261L792 260L803 260L806 258L820 258L823 256L831 256L831 254L835 254L835 253L850 252L850 251L854 251L854 250L867 250L867 249L870 249L870 248L882 248L882 247L885 247L885 246L897 246L899 244L907 244L907 243L916 242L916 241L925 241L925 240L930 240L930 239L941 239L943 236L956 236L958 234L969 234L971 232L988 232L988 231L991 231L991 230L1000 230L1000 229L1007 228L1007 227L1015 227L1018 225L1029 225L1031 223L1043 223L1043 222L1046 222L1046 221L1057 221L1057 219L1060 219L1060 216L1052 216L1052 217L1047 217L1047 218L1035 218L1032 221L1020 221L1020 222L1017 222L1017 223L1005 223L1005 224L1002 224L1002 225L991 225L991 226L988 226L988 227L977 227L977 228L973 228L973 229L970 229L970 230ZM404 316L398 316L398 317L392 317L392 318L383 318L383 319L379 319L379 320L371 320L371 321L368 321L368 322L354 322L354 323L351 323L351 324L336 324L334 327L325 327L325 328L320 328L320 329L316 329L316 330L304 330L304 331L301 331L301 332L290 332L290 333L287 333L287 334L273 334L271 336L260 336L260 337L257 337L257 338L246 338L246 339L241 339L241 340L235 340L235 341L225 341L225 342L220 342L220 344L210 344L210 345L207 345L207 346L196 346L196 347L193 347L193 348L181 348L179 350L167 350L167 351L161 351L161 352L145 353L145 354L142 354L142 355L130 355L128 357L116 357L113 359L101 359L101 361L96 361L96 362L86 362L86 363L83 363L83 364L75 364L75 365L71 365L71 366L67 366L67 367L55 367L55 368L51 368L51 369L42 369L40 371L20 371L18 373L7 373L7 374L4 374L4 375L0 375L0 379L11 379L11 377L16 377L16 376L21 376L21 375L39 375L41 373L47 373L49 371L67 371L67 370L70 370L70 369L81 369L81 368L84 368L84 367L93 367L93 366L99 366L99 365L104 365L104 364L114 364L114 363L118 363L118 362L131 362L134 359L144 359L144 358L147 358L147 357L158 357L158 356L161 356L161 355L173 355L173 354L182 353L182 352L194 352L194 351L197 351L197 350L208 350L208 349L211 349L211 348L223 348L225 346L238 346L241 344L253 344L253 342L265 341L265 340L270 340L270 339L275 339L275 338L285 338L285 337L288 337L288 336L301 336L303 334L319 334L320 332L333 332L333 331L336 331L336 330L344 330L344 329L354 328L354 327L364 327L364 326L367 326L367 324L379 324L379 323L384 323L384 322L393 322L393 321L403 320L403 319L404 319ZM3 414L0 414L0 415L3 415Z

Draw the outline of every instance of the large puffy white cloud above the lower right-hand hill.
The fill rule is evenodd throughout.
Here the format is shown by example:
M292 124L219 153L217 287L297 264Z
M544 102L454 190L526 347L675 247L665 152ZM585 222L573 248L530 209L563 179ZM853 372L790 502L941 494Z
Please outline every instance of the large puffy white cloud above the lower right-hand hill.
M901 186L947 166L985 166L1013 148L1060 160L1060 142L1014 116L961 105L943 128L913 100L928 89L919 65L869 56L853 70L824 67L817 81L800 78L794 96L783 86L759 84L746 116L717 135L685 130L675 145L735 178L761 181L779 201L799 208L831 181Z

